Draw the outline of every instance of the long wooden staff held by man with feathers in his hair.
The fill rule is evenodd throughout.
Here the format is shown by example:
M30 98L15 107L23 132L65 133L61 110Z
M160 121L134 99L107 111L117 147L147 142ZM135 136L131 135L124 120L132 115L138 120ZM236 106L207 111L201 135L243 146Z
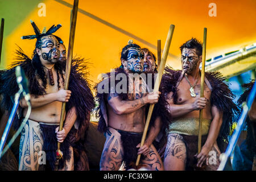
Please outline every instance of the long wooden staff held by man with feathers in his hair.
M67 64L66 64L66 71L65 71L65 85L64 85L65 90L68 89L69 76L70 76L70 72L71 72L72 54L73 54L73 46L74 46L75 31L76 31L76 19L77 19L78 3L79 3L79 0L74 0L73 10L72 10L71 29L70 29L70 34L69 34L68 57L67 57ZM63 129L63 123L64 123L64 117L65 117L65 106L66 106L66 102L63 102L62 106L61 106L59 131L61 131ZM60 151L60 142L57 143L57 146L58 146L57 155L59 154L60 158L61 158L62 152Z

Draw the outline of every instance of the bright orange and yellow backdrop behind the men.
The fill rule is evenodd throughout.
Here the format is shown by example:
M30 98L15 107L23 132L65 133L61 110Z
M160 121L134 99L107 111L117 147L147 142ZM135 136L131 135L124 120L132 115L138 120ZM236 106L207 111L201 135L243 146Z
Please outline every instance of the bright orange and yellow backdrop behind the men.
M1 2L8 0L0 0ZM32 1L32 0L31 0ZM17 1L24 3L25 1ZM68 47L69 39L69 18L71 8L63 5L72 0L42 1L46 4L46 16L38 15L39 7L34 6L30 13L18 26L7 36L4 36L1 68L14 61L14 51L20 46L27 55L32 55L35 48L35 40L22 40L23 35L34 34L30 19L34 20L39 29L43 27L47 30L52 24L61 24L55 35L64 40ZM62 3L61 3L62 2ZM26 1L28 3L28 1ZM216 3L217 16L210 17L209 3ZM11 3L10 3L11 6ZM243 46L256 42L256 1L221 1L221 0L184 0L184 1L79 1L80 12L77 15L75 46L73 55L79 55L92 63L89 66L90 80L97 82L97 77L102 72L109 72L111 68L120 65L120 55L122 47L126 46L129 39L141 47L149 48L156 55L156 49L139 41L145 40L147 43L157 46L157 40L162 40L162 49L166 41L170 24L175 24L174 36L170 47L167 64L175 69L180 69L179 47L188 39L195 37L203 41L203 29L208 28L207 34L207 55L206 58L220 55L229 51L240 49ZM0 18L5 18L6 13L1 13ZM88 12L122 28L127 32L137 36L139 39L131 38L115 28L82 14ZM24 11L24 12L23 12ZM27 13L25 10L10 10L10 14ZM13 23L5 19L6 24ZM92 84L93 84L92 82Z

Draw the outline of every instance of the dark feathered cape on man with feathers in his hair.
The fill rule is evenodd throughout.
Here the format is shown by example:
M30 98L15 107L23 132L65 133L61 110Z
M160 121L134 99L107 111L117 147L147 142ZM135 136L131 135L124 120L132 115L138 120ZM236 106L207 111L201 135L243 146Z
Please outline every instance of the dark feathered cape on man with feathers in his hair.
M1 105L9 111L13 107L14 95L18 92L18 84L16 84L15 67L20 65L24 69L24 72L28 78L28 89L30 94L35 96L46 94L45 88L39 85L39 72L32 60L24 54L22 49L16 51L16 61L13 63L9 69L0 72L0 95L2 96ZM89 83L86 80L88 72L86 71L86 63L84 59L73 59L71 76L69 80L69 90L71 90L71 98L66 104L66 111L72 107L76 108L77 122L81 126L86 125L86 120L88 119L88 114L94 108L94 98L93 94L89 88ZM58 73L63 73L65 71L65 61L58 62L55 64L55 69ZM58 75L59 77L59 75ZM59 82L58 82L59 83ZM17 115L14 119L14 127L17 129L20 125L22 117L18 119Z

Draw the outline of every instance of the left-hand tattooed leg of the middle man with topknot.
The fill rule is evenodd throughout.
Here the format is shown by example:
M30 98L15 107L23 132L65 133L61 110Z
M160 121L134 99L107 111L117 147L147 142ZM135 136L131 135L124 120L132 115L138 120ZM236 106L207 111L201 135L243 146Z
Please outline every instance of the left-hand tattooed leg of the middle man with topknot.
M121 135L118 131L109 128L106 135L106 142L101 154L101 171L118 171L123 162L123 148Z

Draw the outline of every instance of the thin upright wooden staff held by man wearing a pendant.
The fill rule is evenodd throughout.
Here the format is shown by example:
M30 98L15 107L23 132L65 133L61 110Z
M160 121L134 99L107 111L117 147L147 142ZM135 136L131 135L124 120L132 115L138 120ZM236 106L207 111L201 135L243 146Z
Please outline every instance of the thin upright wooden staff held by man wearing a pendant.
M203 55L202 55L200 97L204 97L204 69L205 69L206 41L207 41L207 28L204 28L204 42L203 42ZM200 152L201 152L202 120L203 120L203 109L200 109L200 111L199 111L199 134L198 134L198 146L197 146L198 150L197 150L197 154L200 154Z

